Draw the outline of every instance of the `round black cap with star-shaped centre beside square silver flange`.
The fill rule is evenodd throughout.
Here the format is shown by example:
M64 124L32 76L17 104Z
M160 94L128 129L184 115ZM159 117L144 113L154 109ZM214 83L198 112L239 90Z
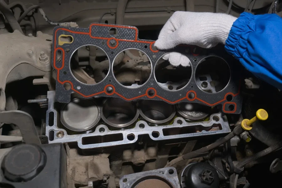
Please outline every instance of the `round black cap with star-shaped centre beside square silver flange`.
M204 162L191 164L185 169L183 175L187 188L219 187L219 176L210 164Z

